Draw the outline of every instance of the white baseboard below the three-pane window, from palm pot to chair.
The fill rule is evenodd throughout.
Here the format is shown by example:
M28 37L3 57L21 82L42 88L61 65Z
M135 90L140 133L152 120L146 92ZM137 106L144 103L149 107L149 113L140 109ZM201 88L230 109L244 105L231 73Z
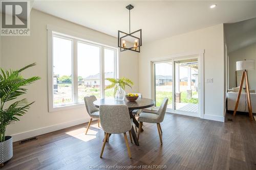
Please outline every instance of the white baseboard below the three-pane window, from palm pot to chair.
M13 140L13 142L15 142L15 141L18 141L18 140L23 140L23 139L26 139L26 138L30 138L30 137L46 134L46 133L49 133L49 132L57 131L57 130L60 130L60 129L65 129L65 128L69 128L69 127L72 127L72 126L87 123L87 122L89 122L89 119L90 119L89 117L88 118L82 118L82 119L76 119L76 120L72 120L70 122L56 124L56 125L52 125L52 126L48 126L48 127L44 127L44 128L38 128L38 129L35 129L35 130L22 132L22 133L17 133L17 134L13 134L13 135L10 135L10 136L12 136L12 140Z

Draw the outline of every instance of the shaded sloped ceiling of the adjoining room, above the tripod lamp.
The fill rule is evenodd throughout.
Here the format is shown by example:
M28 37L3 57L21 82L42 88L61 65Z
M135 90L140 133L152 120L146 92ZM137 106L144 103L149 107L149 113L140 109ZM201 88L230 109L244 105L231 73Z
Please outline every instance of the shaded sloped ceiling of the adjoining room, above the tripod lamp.
M224 25L228 53L256 43L256 18Z

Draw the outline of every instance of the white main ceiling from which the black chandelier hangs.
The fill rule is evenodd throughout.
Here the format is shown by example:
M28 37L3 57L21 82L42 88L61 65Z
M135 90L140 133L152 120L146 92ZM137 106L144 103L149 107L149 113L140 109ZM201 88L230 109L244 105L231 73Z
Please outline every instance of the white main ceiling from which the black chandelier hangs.
M142 29L143 42L256 17L256 1L34 1L33 8L117 37L129 32L129 4L131 32Z

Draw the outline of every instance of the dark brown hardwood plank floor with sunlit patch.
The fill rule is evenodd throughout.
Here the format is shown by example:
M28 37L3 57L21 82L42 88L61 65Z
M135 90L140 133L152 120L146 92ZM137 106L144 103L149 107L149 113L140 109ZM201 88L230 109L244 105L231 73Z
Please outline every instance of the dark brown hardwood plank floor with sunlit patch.
M106 165L256 169L256 122L241 114L232 117L227 113L226 117L233 121L221 123L167 113L161 123L162 146L157 125L144 123L139 147L129 140L132 159L127 155L123 134L111 135L100 159L104 132L94 121L88 135L84 134L87 124L82 124L40 135L28 143L15 142L13 158L2 169L90 169Z

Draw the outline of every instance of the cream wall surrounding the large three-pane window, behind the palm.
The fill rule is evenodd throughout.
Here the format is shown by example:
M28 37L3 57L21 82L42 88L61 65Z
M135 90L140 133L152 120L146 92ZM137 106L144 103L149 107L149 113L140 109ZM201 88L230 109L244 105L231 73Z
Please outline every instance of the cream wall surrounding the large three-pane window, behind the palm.
M117 38L91 30L75 23L42 13L31 11L30 36L1 37L1 67L18 69L30 63L37 65L24 71L24 77L39 76L41 80L28 87L26 98L36 101L29 112L19 122L7 127L7 135L14 140L24 139L41 133L88 122L86 108L48 112L48 79L47 79L47 25L72 30L81 38L106 45L117 46ZM132 69L131 69L132 67ZM138 91L138 54L134 52L119 53L119 76L130 78L134 82L133 89ZM30 131L30 132L28 132ZM16 135L15 135L16 134Z

